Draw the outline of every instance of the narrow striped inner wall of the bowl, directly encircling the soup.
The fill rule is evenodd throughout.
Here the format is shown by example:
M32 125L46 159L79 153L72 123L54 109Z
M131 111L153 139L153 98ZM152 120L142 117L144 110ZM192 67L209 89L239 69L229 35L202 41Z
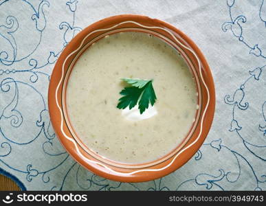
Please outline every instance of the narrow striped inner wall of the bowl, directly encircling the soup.
M107 35L112 35L112 34L116 34L118 32L143 32L146 34L151 34L153 36L156 36L157 38L160 38L162 41L164 41L165 43L167 43L168 45L170 45L171 47L173 47L174 49L177 50L177 52L179 52L182 56L182 58L184 58L186 64L188 65L188 69L190 69L190 72L192 73L192 77L195 81L196 84L196 89L197 89L197 104L199 105L198 109L195 109L195 121L192 123L192 125L190 126L190 129L188 130L188 133L186 135L186 137L184 137L184 139L182 139L181 143L178 144L174 150L171 150L167 155L164 155L163 157L155 160L155 161L149 161L146 163L122 163L122 162L118 162L118 161L113 161L112 159L107 159L106 157L102 157L100 154L97 154L96 152L93 152L93 150L91 150L87 145L85 145L81 138L78 137L77 133L74 130L74 127L71 124L71 119L69 119L69 115L67 112L67 104L66 104L66 91L67 91L67 83L69 80L69 76L71 76L71 71L74 68L74 65L76 64L76 62L78 61L78 58L85 52L86 49L88 49L91 45L93 45L93 43L96 43L97 41L99 41L101 38L104 38L104 36ZM96 36L95 38L91 39L91 41L89 41L87 44L85 44L80 51L76 54L76 56L74 57L74 60L72 60L71 64L69 65L68 69L67 69L67 73L65 75L65 79L63 82L63 93L62 93L62 100L63 100L63 113L65 116L65 122L67 123L67 127L69 128L69 130L71 131L71 135L74 137L74 139L76 140L76 142L78 143L78 145L82 148L82 150L84 150L88 155L91 155L92 157L94 157L95 159L98 159L98 161L101 161L102 163L106 163L108 165L113 165L115 167L119 167L119 168L147 168L153 165L157 165L159 163L162 163L163 161L166 161L167 159L169 159L170 157L173 157L173 155L177 154L177 152L179 152L179 150L181 150L182 148L184 148L184 146L186 145L186 143L188 142L188 140L190 139L190 137L192 136L198 122L199 122L199 115L201 113L201 85L199 84L199 76L197 74L197 69L195 69L195 66L192 64L190 58L188 57L188 55L186 54L186 52L184 52L184 49L182 49L179 45L177 45L177 43L175 43L174 41L170 40L169 38L167 38L166 36L159 34L158 32L154 32L151 30L146 30L143 28L122 28L122 29L118 29L118 30L111 30L108 32L104 32L103 34L100 34L98 36Z

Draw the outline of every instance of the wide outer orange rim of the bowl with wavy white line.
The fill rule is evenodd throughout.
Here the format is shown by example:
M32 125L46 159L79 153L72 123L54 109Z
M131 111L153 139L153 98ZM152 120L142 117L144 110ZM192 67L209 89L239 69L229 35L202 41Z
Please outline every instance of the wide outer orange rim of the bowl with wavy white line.
M175 40L175 43L177 45L186 48L185 54L190 56L191 59L193 58L192 56L194 55L195 58L197 59L196 60L197 63L199 64L198 67L196 67L197 72L199 72L198 75L200 75L200 81L201 81L200 82L201 85L199 86L205 87L205 88L201 87L198 88L199 93L202 92L202 89L206 89L205 95L207 95L208 98L207 101L204 100L206 104L203 104L202 101L204 97L202 95L199 95L199 98L201 99L199 101L201 105L199 109L201 111L197 112L198 113L197 116L199 116L198 121L201 122L200 124L199 122L195 123L195 127L200 132L198 134L198 137L197 138L194 137L194 139L191 140L193 135L194 136L195 134L197 135L197 133L193 133L190 139L188 139L188 137L185 138L188 140L184 144L185 148L184 147L180 148L178 152L175 152L171 157L155 165L154 164L145 165L144 163L145 166L142 168L140 167L120 168L118 165L109 165L106 162L101 162L99 159L95 157L89 157L87 156L88 154L87 155L84 154L84 152L80 150L80 149L84 150L84 148L82 148L82 146L78 144L77 139L74 138L73 128L71 128L71 124L67 122L68 119L65 116L66 109L64 105L65 104L64 88L66 85L65 82L67 82L68 80L66 76L67 73L71 72L69 70L73 68L74 64L76 63L76 59L78 59L81 56L82 54L82 52L80 53L81 49L83 49L83 47L89 47L87 41L87 39L90 39L88 38L90 37L89 35L97 32L103 32L100 34L104 36L104 34L106 34L104 32L112 32L118 29L120 26L124 26L127 24L129 25L135 24L136 26L146 27L148 29L154 29L156 30L155 32L157 32L157 30L164 30L164 32L168 32L171 36L173 36L173 39ZM127 28L129 30L129 27ZM126 30L126 28L124 28L124 30ZM162 31L158 33L162 34ZM91 37L90 41L92 40L93 38ZM190 58L188 57L188 60L190 60ZM187 62L186 59L185 61ZM67 69L65 69L65 65L68 65L66 67ZM62 80L63 84L61 84ZM169 23L160 21L158 19L151 19L148 16L141 16L136 14L123 14L118 16L111 16L89 25L84 30L82 30L82 32L78 33L75 36L75 38L73 38L68 43L67 47L65 47L65 49L63 50L63 53L59 56L56 65L54 66L54 71L52 72L52 76L50 78L49 91L48 91L48 106L49 106L49 114L52 126L54 127L58 139L60 140L61 144L63 144L67 152L69 152L71 157L73 157L78 163L80 163L83 167L87 168L87 170L95 174L98 174L100 176L103 176L104 178L107 179L111 179L114 181L123 181L123 182L141 182L141 181L150 181L165 176L166 174L169 174L170 172L177 170L177 168L180 168L181 165L184 165L186 161L188 161L190 158L192 158L193 155L195 155L201 144L203 144L203 141L206 139L206 136L208 135L208 131L210 130L210 126L212 124L212 119L214 117L214 108L215 108L215 89L214 89L212 73L210 71L206 59L204 58L203 54L201 53L197 45L195 45L195 43L193 43L192 40L188 36L186 36L186 34L178 30L173 25L170 25ZM203 113L201 113L202 111ZM206 113L208 115L206 115ZM179 155L180 156L183 155L182 153L186 153L187 157L177 159Z

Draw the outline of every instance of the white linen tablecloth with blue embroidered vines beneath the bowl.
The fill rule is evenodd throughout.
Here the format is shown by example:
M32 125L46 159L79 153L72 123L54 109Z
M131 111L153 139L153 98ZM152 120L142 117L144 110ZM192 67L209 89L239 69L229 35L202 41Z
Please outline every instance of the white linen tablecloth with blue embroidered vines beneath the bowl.
M216 88L210 133L155 181L120 183L83 169L60 145L49 78L75 34L116 14L175 25L206 56ZM23 190L266 190L266 1L0 0L0 172Z

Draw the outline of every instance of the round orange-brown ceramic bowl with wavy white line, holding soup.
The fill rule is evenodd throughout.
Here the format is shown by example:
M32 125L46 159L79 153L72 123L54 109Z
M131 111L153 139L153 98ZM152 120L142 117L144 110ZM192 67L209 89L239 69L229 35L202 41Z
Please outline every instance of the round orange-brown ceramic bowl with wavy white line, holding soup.
M186 60L198 91L199 109L184 141L168 155L142 164L125 164L103 159L85 146L69 123L65 91L71 69L82 52L98 39L117 32L146 32L175 47ZM122 182L151 181L170 174L186 163L203 144L214 116L215 93L212 74L203 54L188 36L173 25L140 15L119 15L102 19L72 39L58 58L49 83L49 114L57 137L67 152L87 170Z

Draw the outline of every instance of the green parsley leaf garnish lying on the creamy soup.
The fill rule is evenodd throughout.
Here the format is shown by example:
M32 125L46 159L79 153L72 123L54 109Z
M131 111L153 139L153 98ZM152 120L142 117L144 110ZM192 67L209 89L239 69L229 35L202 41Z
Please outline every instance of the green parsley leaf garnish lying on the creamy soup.
M118 108L124 109L129 106L129 109L131 109L137 105L138 102L138 108L140 110L140 114L142 114L146 108L148 108L148 104L151 103L153 106L157 98L153 89L152 80L130 78L124 78L122 80L131 84L132 87L125 87L122 91L120 91L120 94L123 95L123 97L118 100Z

